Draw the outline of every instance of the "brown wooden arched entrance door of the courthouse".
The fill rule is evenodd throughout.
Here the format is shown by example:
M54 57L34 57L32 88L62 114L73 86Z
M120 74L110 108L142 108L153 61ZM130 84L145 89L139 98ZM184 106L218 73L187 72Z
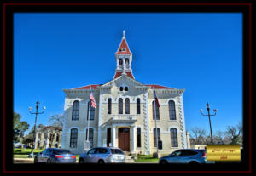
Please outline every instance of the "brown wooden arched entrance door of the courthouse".
M130 150L130 129L119 128L119 148L124 151Z

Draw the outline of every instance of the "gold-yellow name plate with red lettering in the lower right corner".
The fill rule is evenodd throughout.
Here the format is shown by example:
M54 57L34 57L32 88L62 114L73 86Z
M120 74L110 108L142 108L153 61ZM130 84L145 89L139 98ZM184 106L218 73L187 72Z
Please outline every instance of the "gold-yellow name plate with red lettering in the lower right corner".
M207 145L207 161L241 161L241 146Z

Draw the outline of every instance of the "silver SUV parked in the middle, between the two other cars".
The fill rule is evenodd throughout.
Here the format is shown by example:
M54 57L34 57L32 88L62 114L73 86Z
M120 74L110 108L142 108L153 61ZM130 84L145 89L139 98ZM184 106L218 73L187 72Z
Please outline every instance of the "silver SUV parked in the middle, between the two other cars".
M95 147L81 154L79 163L125 163L125 154L119 148Z

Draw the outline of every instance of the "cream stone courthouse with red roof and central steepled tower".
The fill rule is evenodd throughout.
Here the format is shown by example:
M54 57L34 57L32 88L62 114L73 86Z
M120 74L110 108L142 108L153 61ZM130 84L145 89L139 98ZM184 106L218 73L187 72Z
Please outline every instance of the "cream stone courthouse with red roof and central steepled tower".
M89 120L90 147L114 146L131 153L152 154L156 151L158 133L158 139L162 140L161 153L189 148L183 111L184 89L138 82L132 73L133 58L125 31L115 60L111 81L63 89L66 118L61 147L83 153ZM154 89L160 102L160 107L155 108L156 116ZM89 106L90 91L96 99L96 109Z

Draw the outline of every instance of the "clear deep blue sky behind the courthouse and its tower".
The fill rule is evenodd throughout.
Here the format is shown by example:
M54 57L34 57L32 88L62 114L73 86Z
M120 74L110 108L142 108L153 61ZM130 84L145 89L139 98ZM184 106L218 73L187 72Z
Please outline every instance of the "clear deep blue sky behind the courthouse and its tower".
M206 104L218 109L212 131L242 122L241 13L15 13L14 111L46 106L38 123L63 113L63 88L113 79L123 30L138 82L185 88L187 130L209 132ZM213 112L212 112L213 113Z

